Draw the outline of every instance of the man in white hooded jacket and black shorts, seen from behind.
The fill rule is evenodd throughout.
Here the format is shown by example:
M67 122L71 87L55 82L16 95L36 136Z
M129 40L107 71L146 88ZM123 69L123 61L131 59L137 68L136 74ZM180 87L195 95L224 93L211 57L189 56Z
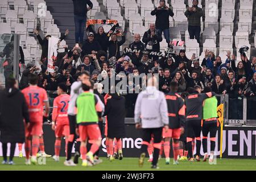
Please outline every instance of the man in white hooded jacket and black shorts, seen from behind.
M139 93L134 110L136 129L142 129L142 146L139 166L142 167L146 156L147 148L154 135L154 152L151 168L157 169L159 151L161 148L162 131L167 132L168 110L164 93L156 89L158 81L155 77L148 79L146 90Z

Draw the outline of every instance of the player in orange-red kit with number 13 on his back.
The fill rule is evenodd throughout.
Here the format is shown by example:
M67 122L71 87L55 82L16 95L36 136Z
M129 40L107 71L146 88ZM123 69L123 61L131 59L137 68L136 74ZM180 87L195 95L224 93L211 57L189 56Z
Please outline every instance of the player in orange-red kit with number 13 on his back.
M28 106L28 113L30 114L30 126L26 128L26 164L36 164L36 153L39 148L39 137L43 134L43 115L48 117L49 101L46 90L37 86L38 76L31 74L28 78L30 86L22 90ZM45 113L44 107L45 106ZM32 139L32 156L31 152Z

